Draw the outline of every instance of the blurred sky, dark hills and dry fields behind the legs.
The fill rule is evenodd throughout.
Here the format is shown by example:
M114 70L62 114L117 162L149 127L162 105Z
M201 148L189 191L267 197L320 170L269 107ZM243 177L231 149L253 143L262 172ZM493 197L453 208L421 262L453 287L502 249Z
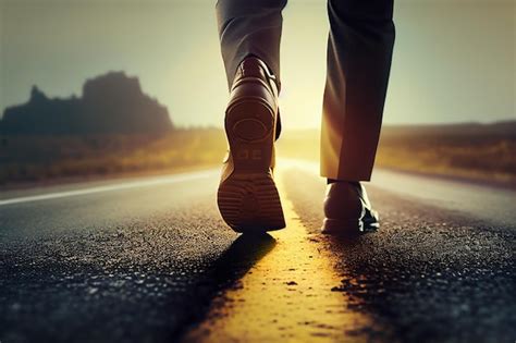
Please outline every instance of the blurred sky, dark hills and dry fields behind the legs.
M221 162L212 0L0 0L0 186ZM280 157L318 159L325 1L283 12ZM516 2L398 0L377 166L516 186Z

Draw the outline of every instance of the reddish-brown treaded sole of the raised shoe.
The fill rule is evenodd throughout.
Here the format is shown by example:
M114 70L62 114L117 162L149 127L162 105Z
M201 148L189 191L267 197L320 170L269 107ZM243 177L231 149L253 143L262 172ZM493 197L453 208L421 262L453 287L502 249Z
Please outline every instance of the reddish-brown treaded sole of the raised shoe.
M234 170L217 194L224 221L236 232L285 228L280 194L270 172L275 119L263 102L245 100L231 106L225 132Z

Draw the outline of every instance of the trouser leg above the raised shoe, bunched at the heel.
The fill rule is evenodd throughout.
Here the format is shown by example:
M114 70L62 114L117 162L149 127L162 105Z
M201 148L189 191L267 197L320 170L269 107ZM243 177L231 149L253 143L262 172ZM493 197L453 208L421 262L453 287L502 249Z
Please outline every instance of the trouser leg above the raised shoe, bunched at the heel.
M228 86L247 56L260 58L280 81L280 40L286 0L219 0L216 5Z

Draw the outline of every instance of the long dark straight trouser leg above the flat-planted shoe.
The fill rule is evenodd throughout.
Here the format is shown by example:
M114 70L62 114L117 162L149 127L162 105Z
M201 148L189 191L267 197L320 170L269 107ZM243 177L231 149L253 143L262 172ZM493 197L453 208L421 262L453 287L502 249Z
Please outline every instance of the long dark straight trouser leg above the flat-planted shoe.
M392 0L328 0L321 175L369 181L394 45Z

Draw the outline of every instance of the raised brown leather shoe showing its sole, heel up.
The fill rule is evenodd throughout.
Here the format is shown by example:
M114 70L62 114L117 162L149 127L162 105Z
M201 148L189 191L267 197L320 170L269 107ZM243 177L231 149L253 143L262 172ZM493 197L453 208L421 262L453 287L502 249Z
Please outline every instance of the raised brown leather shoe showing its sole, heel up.
M273 180L278 87L267 65L246 58L236 72L225 111L229 151L217 203L234 231L265 232L285 228Z

